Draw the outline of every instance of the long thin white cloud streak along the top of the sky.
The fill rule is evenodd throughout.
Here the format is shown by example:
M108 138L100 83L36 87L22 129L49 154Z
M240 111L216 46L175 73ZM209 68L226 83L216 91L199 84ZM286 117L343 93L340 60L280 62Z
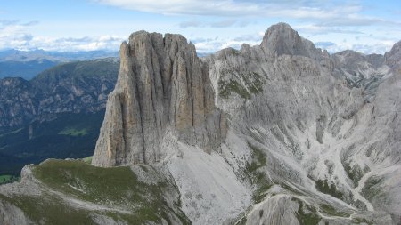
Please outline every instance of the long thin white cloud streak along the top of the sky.
M168 15L199 15L217 17L262 17L297 20L315 19L326 26L367 26L390 22L361 13L360 4L349 1L239 1L239 0L89 0L123 9Z

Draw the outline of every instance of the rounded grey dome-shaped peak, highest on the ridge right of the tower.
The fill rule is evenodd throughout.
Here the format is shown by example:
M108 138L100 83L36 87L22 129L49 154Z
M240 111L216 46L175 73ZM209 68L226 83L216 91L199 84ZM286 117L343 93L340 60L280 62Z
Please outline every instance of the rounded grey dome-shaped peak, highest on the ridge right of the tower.
M315 48L315 45L299 36L287 23L278 23L266 30L261 44L262 49L267 56L302 55L316 59L321 52Z

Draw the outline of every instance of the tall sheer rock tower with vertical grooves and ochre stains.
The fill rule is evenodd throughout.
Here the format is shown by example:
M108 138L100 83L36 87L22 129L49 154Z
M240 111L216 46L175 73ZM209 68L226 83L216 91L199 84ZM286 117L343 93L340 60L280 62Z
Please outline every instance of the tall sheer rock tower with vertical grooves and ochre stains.
M163 137L205 151L225 138L207 66L184 36L144 31L120 48L119 78L110 93L94 165L148 164L165 157Z

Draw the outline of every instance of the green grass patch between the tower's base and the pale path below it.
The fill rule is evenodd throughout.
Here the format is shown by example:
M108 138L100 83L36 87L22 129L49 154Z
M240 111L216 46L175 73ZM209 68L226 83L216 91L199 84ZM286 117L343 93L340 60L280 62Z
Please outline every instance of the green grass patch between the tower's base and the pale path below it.
M163 189L168 188L167 182L148 184L139 181L129 166L102 168L88 165L82 160L52 159L37 165L33 173L51 189L70 197L132 212L106 212L107 216L116 221L127 221L130 224L152 221L160 224L161 218L169 220L169 212L184 224L190 223L178 207L172 209L163 197Z

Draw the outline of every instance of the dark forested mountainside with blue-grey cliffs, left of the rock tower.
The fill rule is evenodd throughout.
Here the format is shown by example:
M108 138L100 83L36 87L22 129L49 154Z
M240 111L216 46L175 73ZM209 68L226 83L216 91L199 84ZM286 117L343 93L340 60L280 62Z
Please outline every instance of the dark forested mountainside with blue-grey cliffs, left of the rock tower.
M117 58L61 63L27 81L0 79L0 175L45 158L92 155Z

